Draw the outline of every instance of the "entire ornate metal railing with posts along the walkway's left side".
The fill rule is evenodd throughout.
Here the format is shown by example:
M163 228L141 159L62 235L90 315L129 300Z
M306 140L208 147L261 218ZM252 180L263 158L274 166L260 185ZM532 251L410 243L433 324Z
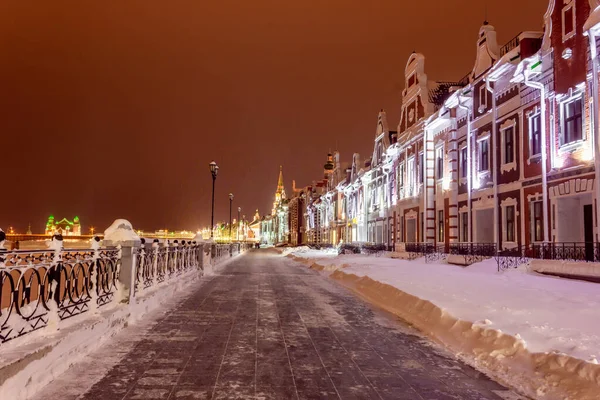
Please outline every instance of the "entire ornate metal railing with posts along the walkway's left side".
M58 244L57 244L58 243ZM217 264L251 243L208 244L145 240L91 249L13 250L0 248L0 345L101 307L131 302L143 291L168 284L190 271Z

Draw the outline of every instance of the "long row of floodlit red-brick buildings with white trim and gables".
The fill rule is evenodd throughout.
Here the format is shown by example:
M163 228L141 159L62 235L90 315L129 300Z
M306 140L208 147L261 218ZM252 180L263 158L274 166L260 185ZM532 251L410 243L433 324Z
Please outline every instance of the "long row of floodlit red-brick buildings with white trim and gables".
M410 55L397 129L382 110L372 156L355 154L339 176L333 157L303 191L307 242L338 242L343 225L345 241L389 248L556 242L593 252L599 3L552 0L543 31L503 45L485 22L471 71L453 82L429 79L425 56Z

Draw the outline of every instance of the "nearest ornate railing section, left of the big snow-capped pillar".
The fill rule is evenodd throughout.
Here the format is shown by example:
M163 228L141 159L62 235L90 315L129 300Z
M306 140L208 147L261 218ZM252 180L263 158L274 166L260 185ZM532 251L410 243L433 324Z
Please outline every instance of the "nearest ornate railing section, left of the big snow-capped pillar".
M0 253L0 343L118 300L118 247Z

